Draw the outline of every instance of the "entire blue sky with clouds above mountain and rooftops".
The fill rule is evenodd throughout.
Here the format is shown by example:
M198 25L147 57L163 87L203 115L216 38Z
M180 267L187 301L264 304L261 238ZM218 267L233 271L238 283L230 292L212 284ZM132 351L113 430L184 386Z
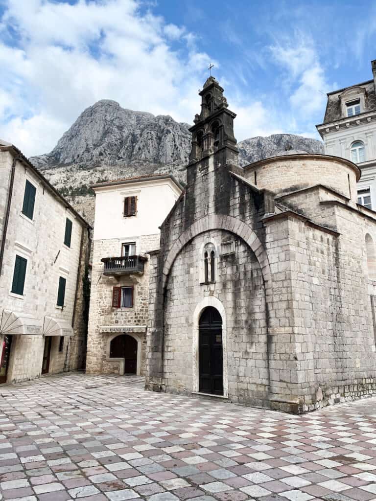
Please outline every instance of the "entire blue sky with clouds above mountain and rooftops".
M318 137L325 93L371 78L360 0L0 0L0 137L49 152L99 99L192 123L213 62L238 140Z

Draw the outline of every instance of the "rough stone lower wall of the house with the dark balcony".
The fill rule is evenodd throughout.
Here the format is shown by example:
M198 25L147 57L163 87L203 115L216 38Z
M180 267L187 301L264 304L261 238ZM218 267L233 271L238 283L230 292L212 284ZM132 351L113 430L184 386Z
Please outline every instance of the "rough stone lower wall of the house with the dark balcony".
M123 275L113 280L102 274L103 263L101 259L110 256L120 256L121 244L133 241L136 242L136 254L143 255L148 250L158 248L159 234L94 241L86 362L86 371L89 373L101 373L113 370L112 368L110 369L110 366L113 367L114 363L106 361L106 359L109 357L109 340L113 339L115 335L113 333L100 333L99 329L101 326L147 326L149 262L145 262L144 274L137 278ZM113 287L128 285L134 286L134 306L132 308L112 308ZM131 333L127 332L127 334ZM121 332L117 335L121 335ZM138 333L138 337L143 338L140 373L144 374L146 336L145 334ZM108 362L111 363L109 364Z

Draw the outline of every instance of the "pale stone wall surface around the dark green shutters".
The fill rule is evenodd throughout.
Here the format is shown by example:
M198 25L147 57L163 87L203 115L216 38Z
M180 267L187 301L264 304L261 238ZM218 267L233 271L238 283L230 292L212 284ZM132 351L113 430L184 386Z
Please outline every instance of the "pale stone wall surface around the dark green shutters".
M4 174L5 170L10 172L12 159L12 155L8 152L0 153L0 173ZM37 188L33 221L21 214L26 179L29 179ZM66 217L73 222L71 247L64 245ZM84 243L87 246L88 234L85 225L43 185L31 169L17 162L3 273L0 277L0 297L2 298L0 318L3 310L8 310L32 314L42 326L45 316L72 322L82 231L85 232ZM11 292L16 255L27 259L23 296ZM84 256L86 259L85 253ZM64 308L56 306L60 276L66 278L67 281ZM81 314L80 309L78 305L76 308L78 316ZM82 326L77 326L75 335L80 337L81 330ZM41 335L13 336L8 370L9 382L40 376L44 339ZM50 373L61 372L64 369L67 343L68 338L65 338L64 349L61 353L58 351L59 337L53 339ZM77 356L70 364L71 369L77 368L76 360L81 357L79 351L80 348L77 348ZM70 353L68 353L68 360L69 357Z

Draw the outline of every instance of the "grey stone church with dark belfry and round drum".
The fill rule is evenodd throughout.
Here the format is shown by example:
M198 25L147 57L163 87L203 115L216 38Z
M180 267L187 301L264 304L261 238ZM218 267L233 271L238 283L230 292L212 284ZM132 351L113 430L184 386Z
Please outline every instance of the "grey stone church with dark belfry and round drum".
M239 168L223 92L200 92L187 185L149 254L146 388L290 412L376 393L359 168L301 151Z

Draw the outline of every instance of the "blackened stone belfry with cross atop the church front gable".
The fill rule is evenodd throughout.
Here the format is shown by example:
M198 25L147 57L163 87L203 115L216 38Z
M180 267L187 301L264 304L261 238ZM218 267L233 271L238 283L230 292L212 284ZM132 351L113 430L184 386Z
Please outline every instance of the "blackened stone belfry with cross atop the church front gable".
M211 65L212 66L212 65ZM209 67L209 71L211 68ZM236 163L238 148L234 137L234 118L236 114L228 109L224 89L210 75L204 84L201 96L201 113L194 119L192 132L192 150L190 164L222 151L222 162Z

